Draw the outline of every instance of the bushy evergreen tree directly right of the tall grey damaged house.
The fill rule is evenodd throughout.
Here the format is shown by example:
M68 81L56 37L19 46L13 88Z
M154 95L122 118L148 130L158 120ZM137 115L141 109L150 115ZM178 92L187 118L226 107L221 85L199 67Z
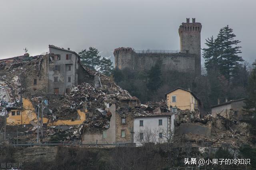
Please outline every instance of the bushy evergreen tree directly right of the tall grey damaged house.
M93 69L98 70L100 66L100 55L98 55L99 51L94 48L90 47L89 50L82 50L78 53L80 55L80 61L84 66Z

